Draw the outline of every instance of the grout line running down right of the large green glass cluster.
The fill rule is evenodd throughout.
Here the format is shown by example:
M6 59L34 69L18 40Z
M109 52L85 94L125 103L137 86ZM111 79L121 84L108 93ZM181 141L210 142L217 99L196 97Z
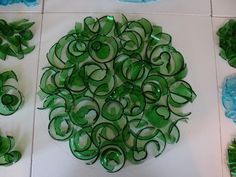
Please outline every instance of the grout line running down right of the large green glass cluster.
M215 44L215 37L214 37L214 25L213 25L213 17L211 17L211 26L212 26L212 38ZM222 130L221 130L221 118L220 118L220 98L219 98L219 89L218 89L218 70L217 70L217 62L216 62L216 49L215 45L213 46L214 49L214 63L215 63L215 78L216 78L216 90L217 90L217 107L218 107L218 120L219 120L219 132L220 132L220 151L221 151L221 176L223 177L223 145L222 145Z

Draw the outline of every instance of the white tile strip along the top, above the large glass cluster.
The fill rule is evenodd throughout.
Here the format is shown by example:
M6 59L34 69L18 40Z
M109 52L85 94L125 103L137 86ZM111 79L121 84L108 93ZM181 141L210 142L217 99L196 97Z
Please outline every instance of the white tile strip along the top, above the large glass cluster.
M210 15L210 0L159 0L158 3L124 3L119 0L45 0L45 12L113 12Z

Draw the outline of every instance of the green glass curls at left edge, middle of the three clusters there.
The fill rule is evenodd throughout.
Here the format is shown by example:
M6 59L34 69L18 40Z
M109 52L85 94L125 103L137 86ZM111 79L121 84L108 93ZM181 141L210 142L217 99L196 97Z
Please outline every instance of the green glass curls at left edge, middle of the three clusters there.
M0 115L3 116L14 114L23 102L20 91L16 87L7 84L10 79L17 81L17 76L13 71L0 74Z

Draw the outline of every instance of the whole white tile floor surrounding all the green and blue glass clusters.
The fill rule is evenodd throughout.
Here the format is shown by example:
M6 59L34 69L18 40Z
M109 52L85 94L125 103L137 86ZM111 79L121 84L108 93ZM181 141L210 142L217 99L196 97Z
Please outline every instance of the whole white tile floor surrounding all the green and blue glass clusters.
M21 110L11 117L0 116L0 129L15 136L17 148L23 151L21 161L10 167L0 167L0 177L112 176L100 165L86 166L75 159L67 143L53 141L47 133L47 111L35 109L40 105L35 96L36 81L41 77L41 68L47 65L49 48L72 29L76 21L88 15L101 16L101 13L116 13L116 17L124 13L131 19L145 17L163 26L164 31L172 35L173 45L184 55L189 68L187 80L198 95L188 106L192 111L189 123L180 124L181 140L178 144L168 148L157 159L128 166L113 176L229 177L225 152L227 144L236 135L236 125L224 117L218 98L224 77L236 73L236 70L220 59L215 33L227 17L236 17L235 0L160 0L146 5L118 0L97 2L45 0L35 8L23 5L0 8L0 18L9 21L29 18L36 22L32 42L37 46L22 61L10 58L0 62L1 72L13 69L17 73L19 88L25 96Z

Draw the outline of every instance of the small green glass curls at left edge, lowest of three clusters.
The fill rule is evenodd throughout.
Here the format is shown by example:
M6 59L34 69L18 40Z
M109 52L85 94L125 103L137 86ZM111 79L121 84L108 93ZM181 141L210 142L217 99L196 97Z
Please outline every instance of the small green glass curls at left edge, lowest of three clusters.
M15 140L11 136L0 136L0 166L9 166L21 158L19 151L13 150Z

